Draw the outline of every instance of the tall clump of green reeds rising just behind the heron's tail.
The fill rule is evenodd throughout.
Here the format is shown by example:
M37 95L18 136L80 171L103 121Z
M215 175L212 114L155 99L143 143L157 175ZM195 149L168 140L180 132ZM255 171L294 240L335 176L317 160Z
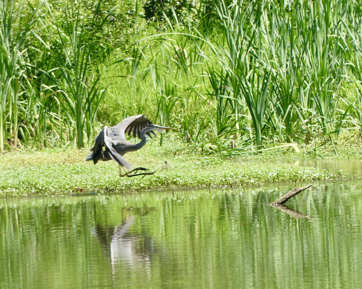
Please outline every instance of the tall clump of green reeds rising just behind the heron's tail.
M102 0L99 0L91 16L93 20L90 27L96 20L101 4ZM56 25L57 35L53 38L51 49L54 63L58 66L55 69L61 77L52 77L54 69L46 72L62 93L60 103L66 116L69 136L78 148L84 147L85 143L90 144L97 123L97 110L108 88L101 82L102 72L96 69L97 60L92 58L98 43L91 41L91 31L86 30L85 19L79 5L73 0L64 1L64 18Z

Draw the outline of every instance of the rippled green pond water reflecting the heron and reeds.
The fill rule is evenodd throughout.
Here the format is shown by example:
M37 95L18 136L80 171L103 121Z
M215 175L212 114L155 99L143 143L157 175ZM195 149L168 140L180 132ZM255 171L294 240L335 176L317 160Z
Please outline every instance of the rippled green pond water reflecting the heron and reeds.
M362 288L362 180L294 186L0 200L0 288Z

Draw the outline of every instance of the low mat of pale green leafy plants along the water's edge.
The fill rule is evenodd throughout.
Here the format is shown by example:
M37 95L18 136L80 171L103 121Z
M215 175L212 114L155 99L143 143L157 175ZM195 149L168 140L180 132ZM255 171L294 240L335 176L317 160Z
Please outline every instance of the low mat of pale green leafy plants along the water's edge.
M12 153L0 156L0 196L62 195L85 192L130 193L140 190L184 189L222 186L251 186L336 179L333 173L313 167L283 163L290 159L318 159L308 150L273 151L262 155L233 158L202 156L185 146L174 146L172 136L160 147L150 141L137 152L125 157L133 167L146 167L154 175L119 177L113 161L93 165L85 162L87 150L45 150L33 153ZM332 150L332 149L331 149ZM340 157L351 153L361 158L358 147L349 147ZM328 156L328 151L323 152ZM332 158L332 154L330 155ZM328 157L327 157L328 158ZM278 161L279 160L279 161ZM163 168L165 161L169 166Z

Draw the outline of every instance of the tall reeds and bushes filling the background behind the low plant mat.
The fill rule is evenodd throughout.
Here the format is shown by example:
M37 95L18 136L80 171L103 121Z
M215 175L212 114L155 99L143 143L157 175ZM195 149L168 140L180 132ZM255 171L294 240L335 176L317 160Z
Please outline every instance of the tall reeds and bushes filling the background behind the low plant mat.
M3 1L0 152L89 147L139 113L202 153L360 136L358 3L116 4Z

